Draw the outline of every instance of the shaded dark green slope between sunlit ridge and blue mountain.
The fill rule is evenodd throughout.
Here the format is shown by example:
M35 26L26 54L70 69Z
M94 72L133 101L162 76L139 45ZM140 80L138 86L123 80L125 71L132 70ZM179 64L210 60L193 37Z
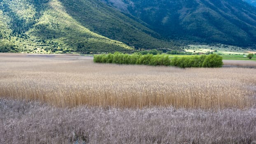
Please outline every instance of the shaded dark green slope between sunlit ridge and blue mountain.
M140 19L113 9L100 0L60 1L67 13L83 26L110 39L145 49L172 48L175 45L149 29Z

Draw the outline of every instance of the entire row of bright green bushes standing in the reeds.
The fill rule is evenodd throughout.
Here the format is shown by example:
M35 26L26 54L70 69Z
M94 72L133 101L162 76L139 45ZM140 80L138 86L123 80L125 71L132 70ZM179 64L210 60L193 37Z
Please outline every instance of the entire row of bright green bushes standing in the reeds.
M222 57L216 54L208 56L189 56L174 57L172 59L165 55L142 55L141 53L133 53L132 55L115 52L114 54L94 55L95 63L116 63L127 65L164 65L175 67L222 67Z

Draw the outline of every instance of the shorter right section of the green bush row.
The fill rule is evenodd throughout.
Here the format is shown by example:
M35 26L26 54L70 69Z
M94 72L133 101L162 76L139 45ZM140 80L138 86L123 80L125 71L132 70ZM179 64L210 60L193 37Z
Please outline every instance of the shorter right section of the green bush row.
M222 67L222 57L217 54L208 56L190 56L190 57L175 57L171 60L171 65L175 67Z

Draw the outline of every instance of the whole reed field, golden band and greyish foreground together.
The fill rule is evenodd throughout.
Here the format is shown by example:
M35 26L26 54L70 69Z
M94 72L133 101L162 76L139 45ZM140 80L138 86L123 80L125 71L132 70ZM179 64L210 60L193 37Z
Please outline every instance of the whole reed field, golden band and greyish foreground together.
M0 53L0 144L256 144L256 69Z

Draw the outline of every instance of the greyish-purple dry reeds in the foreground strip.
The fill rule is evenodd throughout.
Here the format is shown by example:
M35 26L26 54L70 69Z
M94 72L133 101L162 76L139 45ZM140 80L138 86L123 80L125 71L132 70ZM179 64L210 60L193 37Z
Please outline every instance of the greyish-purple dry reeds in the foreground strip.
M0 98L1 144L255 144L256 109L62 109Z

